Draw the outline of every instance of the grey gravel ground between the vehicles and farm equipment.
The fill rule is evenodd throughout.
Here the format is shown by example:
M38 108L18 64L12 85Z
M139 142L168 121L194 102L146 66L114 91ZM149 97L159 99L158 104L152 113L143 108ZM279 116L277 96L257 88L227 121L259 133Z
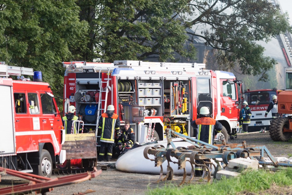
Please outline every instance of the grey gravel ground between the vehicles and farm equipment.
M247 145L265 145L270 153L274 157L290 157L292 155L292 143L291 142L275 142L270 139L269 133L241 133L235 140L229 140L231 143L242 143L246 141ZM138 174L138 173L124 173L117 171L116 169L111 169L110 165L114 165L114 162L106 163L108 164L107 170L104 170L101 175L93 178L90 181L84 181L81 183L55 187L53 191L47 193L47 195L69 195L85 193L86 191L92 192L90 194L141 194L144 195L148 189L163 187L165 184L178 185L182 181L182 176L174 176L172 181L156 183L158 175L149 174ZM154 163L153 163L154 166ZM100 166L97 166L100 169ZM52 178L61 177L62 175L53 175ZM189 176L187 176L189 179ZM0 188L7 187L10 185L17 185L21 183L26 183L26 180L12 177L9 175L2 175L0 182ZM212 179L211 179L212 181ZM192 184L207 183L206 180L202 180L200 177L194 177L191 181ZM290 189L289 189L290 188ZM280 192L280 193L279 193ZM286 192L286 193L285 193ZM254 193L242 192L239 194L249 194ZM279 189L277 186L273 186L266 192L260 194L292 194L291 187Z

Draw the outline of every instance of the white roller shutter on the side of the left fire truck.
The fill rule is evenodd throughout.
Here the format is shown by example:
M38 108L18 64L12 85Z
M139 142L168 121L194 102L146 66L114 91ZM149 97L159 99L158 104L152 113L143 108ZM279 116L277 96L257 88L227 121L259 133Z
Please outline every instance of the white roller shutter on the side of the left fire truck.
M2 81L2 79L1 79ZM11 83L11 82L10 82ZM14 140L14 112L11 86L0 85L1 110L1 136L0 136L0 155L15 153Z

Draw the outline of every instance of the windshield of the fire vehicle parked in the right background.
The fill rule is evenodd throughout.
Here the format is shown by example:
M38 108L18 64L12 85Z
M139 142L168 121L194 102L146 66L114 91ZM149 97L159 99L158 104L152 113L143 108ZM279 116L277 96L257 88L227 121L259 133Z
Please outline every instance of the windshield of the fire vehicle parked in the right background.
M276 91L253 91L246 92L245 98L248 105L262 105L269 104L272 101L273 95L276 95Z

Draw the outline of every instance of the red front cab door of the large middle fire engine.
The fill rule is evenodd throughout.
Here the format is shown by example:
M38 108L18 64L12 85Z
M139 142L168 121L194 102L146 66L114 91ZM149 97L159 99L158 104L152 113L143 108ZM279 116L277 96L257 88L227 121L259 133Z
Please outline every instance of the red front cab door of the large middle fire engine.
M238 108L235 83L231 80L220 79L221 82L221 112L230 120L237 120Z

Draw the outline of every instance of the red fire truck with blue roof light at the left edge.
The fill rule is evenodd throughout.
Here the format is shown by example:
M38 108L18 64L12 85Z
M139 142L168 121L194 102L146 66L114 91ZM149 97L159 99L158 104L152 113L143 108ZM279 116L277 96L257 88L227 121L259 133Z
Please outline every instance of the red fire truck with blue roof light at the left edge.
M0 166L50 177L65 161L65 131L52 90L41 72L0 64ZM18 76L18 80L8 78ZM34 81L21 75L34 75ZM21 77L20 77L21 76ZM69 99L65 104L68 110Z

